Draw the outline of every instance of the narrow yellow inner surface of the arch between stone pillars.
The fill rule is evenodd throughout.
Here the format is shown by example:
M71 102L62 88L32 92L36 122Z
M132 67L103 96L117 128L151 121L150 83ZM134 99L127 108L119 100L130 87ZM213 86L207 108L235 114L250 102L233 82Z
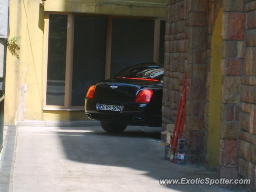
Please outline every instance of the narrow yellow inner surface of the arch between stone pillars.
M210 103L207 136L207 160L209 166L218 166L220 145L220 110L221 110L221 62L222 62L222 14L220 9L212 34L212 58L210 76Z

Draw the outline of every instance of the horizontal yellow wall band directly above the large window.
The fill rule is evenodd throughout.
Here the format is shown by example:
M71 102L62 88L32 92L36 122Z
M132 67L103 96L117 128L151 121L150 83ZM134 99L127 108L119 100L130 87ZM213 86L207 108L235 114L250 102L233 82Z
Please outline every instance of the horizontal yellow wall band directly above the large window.
M166 0L47 0L45 10L165 17Z

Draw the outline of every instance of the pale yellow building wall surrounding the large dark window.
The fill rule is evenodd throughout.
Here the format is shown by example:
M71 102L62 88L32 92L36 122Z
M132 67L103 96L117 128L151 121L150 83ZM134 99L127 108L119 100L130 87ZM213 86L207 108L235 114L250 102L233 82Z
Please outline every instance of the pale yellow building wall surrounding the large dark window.
M84 111L43 111L44 8L41 0L10 0L9 38L20 36L20 59L7 51L4 123L84 120ZM45 11L165 17L165 0L47 0Z

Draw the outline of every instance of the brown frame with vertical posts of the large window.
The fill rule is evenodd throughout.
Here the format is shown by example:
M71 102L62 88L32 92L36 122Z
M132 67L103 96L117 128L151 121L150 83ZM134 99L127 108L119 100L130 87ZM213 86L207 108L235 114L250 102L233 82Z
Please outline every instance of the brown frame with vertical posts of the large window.
M48 37L49 37L49 15L50 14L65 14L68 16L64 106L46 105L47 67L48 67ZM103 18L106 18L106 20L107 20L106 58L105 58L105 77L104 77L105 79L110 78L113 18L154 20L153 62L156 62L156 63L159 62L160 21L166 20L165 18L139 17L139 16L116 16L116 15L86 14L86 13L73 13L73 12L45 12L45 16L44 16L44 54L45 54L45 56L44 56L44 80L43 80L43 110L66 110L66 111L84 110L84 106L71 106L75 15L103 17Z

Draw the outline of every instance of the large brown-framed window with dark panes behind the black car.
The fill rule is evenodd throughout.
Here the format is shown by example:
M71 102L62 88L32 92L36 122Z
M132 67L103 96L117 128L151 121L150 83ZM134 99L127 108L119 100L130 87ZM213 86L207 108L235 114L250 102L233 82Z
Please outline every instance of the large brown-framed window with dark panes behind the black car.
M140 62L163 62L156 18L51 14L46 18L44 109L82 110L88 87Z

